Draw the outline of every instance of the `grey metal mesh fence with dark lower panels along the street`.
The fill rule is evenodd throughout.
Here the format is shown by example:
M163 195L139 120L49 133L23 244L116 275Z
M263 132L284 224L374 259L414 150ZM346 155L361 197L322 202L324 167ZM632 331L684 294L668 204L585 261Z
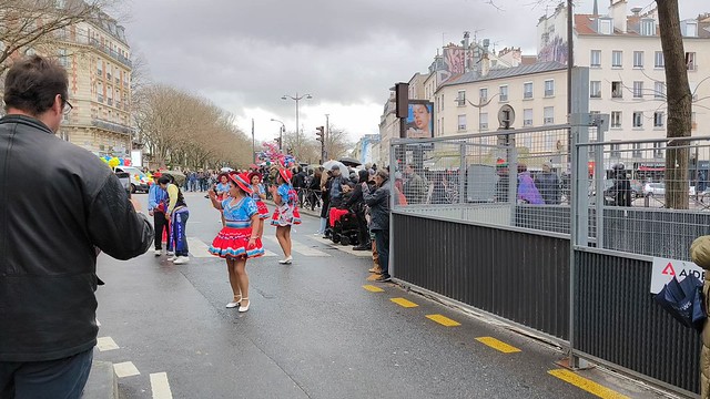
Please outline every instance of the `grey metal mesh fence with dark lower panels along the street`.
M692 395L698 336L649 285L710 233L710 137L605 141L605 117L393 141L393 274Z

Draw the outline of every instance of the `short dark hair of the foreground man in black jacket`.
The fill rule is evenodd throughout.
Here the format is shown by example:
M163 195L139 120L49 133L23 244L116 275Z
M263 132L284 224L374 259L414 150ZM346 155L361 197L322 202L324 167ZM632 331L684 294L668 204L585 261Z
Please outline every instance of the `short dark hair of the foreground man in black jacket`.
M55 60L32 55L17 61L4 79L4 108L40 115L54 104L57 94L67 101L67 70Z

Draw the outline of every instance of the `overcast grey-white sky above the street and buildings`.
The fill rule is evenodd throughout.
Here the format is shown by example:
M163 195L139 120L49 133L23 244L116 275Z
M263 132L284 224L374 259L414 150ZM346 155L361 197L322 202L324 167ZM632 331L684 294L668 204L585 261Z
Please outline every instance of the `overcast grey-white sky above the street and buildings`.
M495 3L495 7L489 4ZM540 4L541 3L541 4ZM547 0L132 0L125 23L133 51L153 81L203 95L232 112L257 140L277 135L277 119L295 130L331 124L352 141L378 133L389 88L425 72L443 43L464 31L497 50L536 53L536 23ZM649 7L651 0L630 0ZM708 0L680 0L681 19L710 11ZM591 12L578 0L576 12ZM600 12L608 0L599 0Z

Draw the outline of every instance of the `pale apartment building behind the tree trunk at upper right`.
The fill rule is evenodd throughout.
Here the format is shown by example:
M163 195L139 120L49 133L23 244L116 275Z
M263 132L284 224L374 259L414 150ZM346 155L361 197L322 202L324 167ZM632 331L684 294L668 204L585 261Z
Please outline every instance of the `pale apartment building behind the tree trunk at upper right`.
M606 140L665 137L667 90L658 12L627 8L626 0L612 0L605 14L575 16L575 65L590 69L590 111L611 116ZM564 7L539 20L541 60L567 62L566 20ZM704 135L710 133L710 81L706 80L710 74L710 14L681 20L680 29L693 93L692 135ZM641 155L642 149L638 150L637 157L662 156L662 151Z

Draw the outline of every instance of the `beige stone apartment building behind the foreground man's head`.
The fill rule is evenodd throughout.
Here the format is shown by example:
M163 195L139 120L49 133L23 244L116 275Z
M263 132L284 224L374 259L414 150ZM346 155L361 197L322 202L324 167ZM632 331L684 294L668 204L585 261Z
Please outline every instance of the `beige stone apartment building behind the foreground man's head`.
M130 156L132 63L124 28L98 14L57 32L55 51L73 105L58 135L97 155Z

